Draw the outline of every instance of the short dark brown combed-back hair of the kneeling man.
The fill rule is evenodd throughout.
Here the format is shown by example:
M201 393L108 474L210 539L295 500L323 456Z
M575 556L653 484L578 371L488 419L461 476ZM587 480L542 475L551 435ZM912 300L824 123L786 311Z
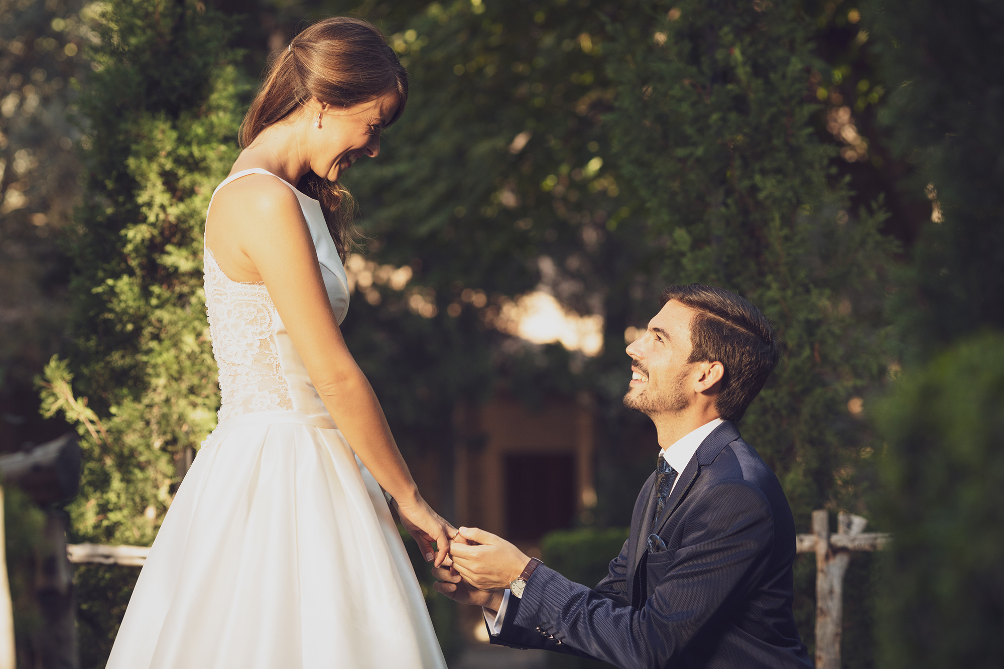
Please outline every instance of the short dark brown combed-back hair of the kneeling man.
M687 362L722 364L725 375L715 409L725 420L738 421L777 366L782 343L760 309L731 290L671 285L663 291L663 304L671 299L697 311Z

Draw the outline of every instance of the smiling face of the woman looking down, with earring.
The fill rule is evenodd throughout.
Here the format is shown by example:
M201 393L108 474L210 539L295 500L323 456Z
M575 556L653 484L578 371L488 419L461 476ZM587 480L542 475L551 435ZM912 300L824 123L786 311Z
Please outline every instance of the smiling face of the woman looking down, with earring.
M310 132L310 169L330 182L360 158L380 155L381 132L395 116L399 96L388 93L368 102L338 108L314 98L307 105ZM320 113L320 128L315 128Z

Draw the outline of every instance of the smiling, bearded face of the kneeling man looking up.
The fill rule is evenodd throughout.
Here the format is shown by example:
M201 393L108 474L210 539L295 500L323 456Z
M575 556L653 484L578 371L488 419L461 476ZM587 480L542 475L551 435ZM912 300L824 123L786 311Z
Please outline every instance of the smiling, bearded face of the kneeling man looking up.
M648 416L683 411L690 405L691 320L695 311L671 299L628 347L632 381L624 406Z

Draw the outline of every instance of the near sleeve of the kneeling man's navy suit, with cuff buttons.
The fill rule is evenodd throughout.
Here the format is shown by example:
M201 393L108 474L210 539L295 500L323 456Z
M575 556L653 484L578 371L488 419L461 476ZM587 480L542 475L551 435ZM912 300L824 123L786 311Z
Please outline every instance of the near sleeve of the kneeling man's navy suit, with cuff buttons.
M650 582L653 595L644 608L539 567L497 639L623 669L670 666L702 629L726 618L748 595L773 543L770 507L755 486L723 481L702 497L687 516L680 547L668 554L665 574Z

